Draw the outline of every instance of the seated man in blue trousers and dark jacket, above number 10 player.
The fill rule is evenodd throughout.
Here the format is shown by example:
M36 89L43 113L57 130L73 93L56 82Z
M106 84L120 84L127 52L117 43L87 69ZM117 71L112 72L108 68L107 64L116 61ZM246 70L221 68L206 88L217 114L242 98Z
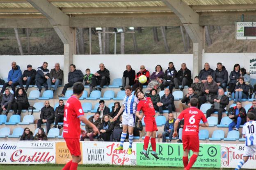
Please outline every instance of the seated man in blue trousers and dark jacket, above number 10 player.
M246 122L246 113L245 108L242 107L241 102L236 102L235 107L229 108L228 115L230 119L233 119L233 122L229 124L229 131L238 130L240 125L244 125Z

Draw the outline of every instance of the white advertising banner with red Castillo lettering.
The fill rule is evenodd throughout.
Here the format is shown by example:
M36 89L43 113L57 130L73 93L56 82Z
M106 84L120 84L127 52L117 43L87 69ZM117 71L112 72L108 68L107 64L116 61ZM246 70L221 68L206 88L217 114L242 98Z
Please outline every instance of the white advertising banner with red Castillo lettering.
M0 163L55 163L55 142L0 141Z

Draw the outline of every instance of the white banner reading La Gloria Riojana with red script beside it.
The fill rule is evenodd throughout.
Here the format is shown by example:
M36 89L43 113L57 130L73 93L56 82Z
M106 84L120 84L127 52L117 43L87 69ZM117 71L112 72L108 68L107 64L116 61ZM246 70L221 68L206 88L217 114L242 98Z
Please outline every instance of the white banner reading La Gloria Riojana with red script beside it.
M128 142L124 143L123 150L115 150L118 146L117 142L83 142L83 163L136 165L136 144L133 144L133 152L130 155L127 154Z

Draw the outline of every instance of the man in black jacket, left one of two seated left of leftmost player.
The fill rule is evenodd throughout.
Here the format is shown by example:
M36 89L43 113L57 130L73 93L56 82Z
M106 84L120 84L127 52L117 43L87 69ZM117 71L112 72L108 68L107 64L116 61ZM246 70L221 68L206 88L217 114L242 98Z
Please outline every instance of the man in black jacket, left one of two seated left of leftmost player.
M45 106L41 109L40 119L37 121L37 128L41 127L42 123L46 123L48 134L50 125L54 122L54 109L50 106L49 100L46 100L44 104Z

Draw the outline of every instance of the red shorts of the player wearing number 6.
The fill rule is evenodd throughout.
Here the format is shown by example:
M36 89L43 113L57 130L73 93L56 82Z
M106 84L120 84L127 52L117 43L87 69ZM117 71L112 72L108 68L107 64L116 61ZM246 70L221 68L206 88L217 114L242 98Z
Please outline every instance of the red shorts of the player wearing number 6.
M183 150L192 150L193 152L199 152L199 137L194 135L182 136Z

